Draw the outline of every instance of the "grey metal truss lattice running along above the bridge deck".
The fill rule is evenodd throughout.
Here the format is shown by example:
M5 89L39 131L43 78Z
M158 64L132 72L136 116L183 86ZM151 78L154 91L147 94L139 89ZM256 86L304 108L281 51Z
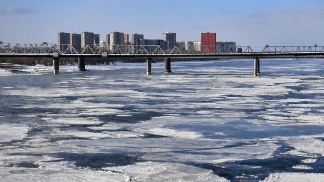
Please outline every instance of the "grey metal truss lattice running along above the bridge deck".
M255 51L251 46L207 46L207 45L96 45L86 44L76 47L73 44L40 44L3 43L0 41L0 54L250 54L250 53L289 53L289 52L324 52L324 46L270 46L265 45L262 51Z

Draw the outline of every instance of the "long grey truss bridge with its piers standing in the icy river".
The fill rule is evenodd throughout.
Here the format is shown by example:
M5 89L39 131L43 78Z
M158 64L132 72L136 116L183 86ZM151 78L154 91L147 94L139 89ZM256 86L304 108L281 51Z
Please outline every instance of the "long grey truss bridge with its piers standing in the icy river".
M324 46L270 46L257 50L251 46L181 46L163 50L161 45L96 45L87 44L77 49L72 44L23 44L0 41L0 57L53 58L54 74L59 73L60 58L77 58L78 70L85 71L85 59L92 57L127 58L142 57L147 61L147 74L151 75L152 58L165 58L165 73L171 72L171 57L177 58L253 58L254 76L260 73L260 58L324 56Z

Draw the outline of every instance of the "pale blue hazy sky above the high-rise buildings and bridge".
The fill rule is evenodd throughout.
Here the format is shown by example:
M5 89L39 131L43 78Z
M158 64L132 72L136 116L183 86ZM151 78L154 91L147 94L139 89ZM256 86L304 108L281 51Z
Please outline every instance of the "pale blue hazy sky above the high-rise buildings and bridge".
M57 32L121 31L253 47L324 45L324 0L0 0L0 41L57 42Z

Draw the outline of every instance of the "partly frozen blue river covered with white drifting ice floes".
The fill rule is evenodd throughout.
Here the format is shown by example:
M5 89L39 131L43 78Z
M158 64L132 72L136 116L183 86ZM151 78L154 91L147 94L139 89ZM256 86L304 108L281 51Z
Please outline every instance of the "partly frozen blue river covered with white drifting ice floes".
M1 73L0 181L324 181L324 60L260 65Z

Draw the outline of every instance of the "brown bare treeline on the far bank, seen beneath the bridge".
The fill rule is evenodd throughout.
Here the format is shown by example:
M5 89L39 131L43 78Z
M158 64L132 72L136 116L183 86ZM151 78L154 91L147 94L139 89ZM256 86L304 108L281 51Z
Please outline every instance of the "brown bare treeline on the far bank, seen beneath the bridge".
M156 62L164 61L164 58L153 58ZM210 60L210 58L171 58L171 61L193 61L193 60ZM77 58L60 58L60 64L74 64L77 62ZM111 64L116 61L120 62L146 62L145 58L86 58L86 64L94 65L94 64ZM12 64L21 64L21 65L47 65L51 66L53 64L53 60L51 58L39 58L39 57L8 57L8 58L0 58L0 63L12 63Z

